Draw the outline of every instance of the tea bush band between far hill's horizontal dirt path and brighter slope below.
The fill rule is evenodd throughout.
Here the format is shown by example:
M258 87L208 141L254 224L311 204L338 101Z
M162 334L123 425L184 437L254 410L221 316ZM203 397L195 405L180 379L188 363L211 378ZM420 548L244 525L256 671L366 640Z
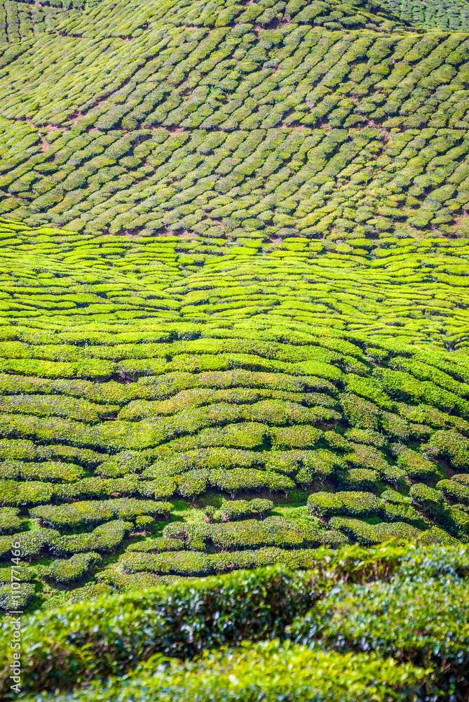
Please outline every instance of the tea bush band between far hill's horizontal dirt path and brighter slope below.
M351 105L355 105L352 100ZM11 124L4 124L5 137ZM243 125L233 132L237 141L229 132L220 132L222 143L208 156L198 152L211 133L207 129L186 131L191 136L184 145L172 138L168 128L142 129L133 133L133 141L126 140L121 157L125 163L140 161L138 171L104 165L116 161L111 143L97 149L102 151L99 157L93 157L90 147L89 160L73 168L74 180L67 176L72 157L62 164L62 150L71 151L68 141L80 138L71 131L55 139L45 152L40 141L23 149L23 159L31 150L37 153L22 164L8 159L7 147L0 164L4 170L0 211L32 225L50 223L94 234L182 234L184 238L172 243L186 249L186 256L223 253L233 240L253 254L265 241L298 236L305 239L304 244L311 241L314 251L324 237L345 239L353 247L354 239L381 232L388 236L397 232L401 237L431 236L435 230L454 234L459 230L456 220L468 203L468 140L463 122L448 126L426 128L422 133L390 125L339 125L330 131L330 127L269 128L259 122L253 126L255 139L249 130L243 131ZM94 131L86 134L86 142L95 137ZM114 130L111 136L122 140L125 133ZM133 155L137 139L144 139L146 152L140 159ZM418 159L413 157L415 150L423 152ZM44 161L43 154L47 163L36 164L39 156ZM252 166L247 168L244 164L250 159ZM191 162L193 171L187 173ZM47 183L50 171L56 175ZM152 175L142 190L144 172ZM288 243L285 249L294 250L295 239ZM130 241L124 247L128 249ZM121 241L116 241L102 246L102 253L115 257L123 253L122 248ZM171 256L170 246L168 253ZM351 249L345 247L341 253Z

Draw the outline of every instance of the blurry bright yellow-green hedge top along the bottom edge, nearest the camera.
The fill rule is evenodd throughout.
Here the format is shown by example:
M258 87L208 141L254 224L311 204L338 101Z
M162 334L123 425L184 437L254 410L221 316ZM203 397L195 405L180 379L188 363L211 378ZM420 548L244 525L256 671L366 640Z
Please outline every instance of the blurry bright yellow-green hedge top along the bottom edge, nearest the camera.
M154 656L124 680L94 684L72 696L40 694L38 702L97 702L103 698L138 698L147 702L407 702L421 687L426 671L410 663L396 665L374 655L342 656L335 651L310 651L299 644L278 641L240 649L211 652L180 665Z

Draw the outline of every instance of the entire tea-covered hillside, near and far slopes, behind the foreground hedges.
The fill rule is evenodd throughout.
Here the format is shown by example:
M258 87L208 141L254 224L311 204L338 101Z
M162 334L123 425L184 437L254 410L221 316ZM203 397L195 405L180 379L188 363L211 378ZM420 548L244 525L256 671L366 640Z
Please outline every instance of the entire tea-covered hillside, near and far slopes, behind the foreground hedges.
M4 3L1 607L469 540L466 7Z

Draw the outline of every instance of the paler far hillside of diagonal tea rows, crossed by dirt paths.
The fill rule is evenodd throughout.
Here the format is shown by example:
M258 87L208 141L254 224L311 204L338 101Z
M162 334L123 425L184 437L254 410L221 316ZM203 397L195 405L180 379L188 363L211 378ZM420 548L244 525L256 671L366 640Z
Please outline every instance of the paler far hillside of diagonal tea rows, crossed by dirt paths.
M377 6L221 5L129 20L129 4L100 2L5 45L0 211L188 234L196 255L460 230L465 34L414 32Z

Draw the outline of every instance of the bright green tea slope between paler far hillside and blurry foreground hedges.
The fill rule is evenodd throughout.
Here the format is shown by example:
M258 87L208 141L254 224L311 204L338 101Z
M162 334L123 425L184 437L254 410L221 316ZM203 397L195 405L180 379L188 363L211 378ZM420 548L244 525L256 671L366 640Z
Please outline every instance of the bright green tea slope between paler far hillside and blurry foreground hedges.
M29 607L467 541L464 239L196 259L181 237L0 228L0 552L20 542ZM336 505L322 524L310 494Z

